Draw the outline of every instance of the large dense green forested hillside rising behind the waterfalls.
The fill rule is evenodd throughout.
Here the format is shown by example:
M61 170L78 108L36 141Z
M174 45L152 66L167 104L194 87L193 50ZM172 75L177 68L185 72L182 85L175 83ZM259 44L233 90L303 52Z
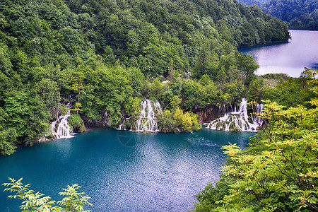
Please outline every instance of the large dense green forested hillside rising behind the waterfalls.
M167 110L163 131L196 129L198 110L248 93L258 64L236 47L288 38L231 0L1 1L0 153L49 134L67 104L74 128L132 122L150 98Z

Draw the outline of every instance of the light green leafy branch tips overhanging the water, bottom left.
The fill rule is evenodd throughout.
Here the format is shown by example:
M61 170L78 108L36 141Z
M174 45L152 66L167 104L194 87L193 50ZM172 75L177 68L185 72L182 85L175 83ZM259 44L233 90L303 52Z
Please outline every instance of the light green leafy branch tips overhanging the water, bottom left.
M80 186L78 184L73 184L67 186L66 189L62 189L64 192L59 192L59 195L64 196L61 201L52 201L51 197L45 196L40 192L34 192L30 190L30 184L23 185L22 178L16 180L13 178L8 178L11 182L4 183L6 189L4 191L9 191L15 193L8 196L9 199L22 199L22 205L20 209L23 212L66 212L66 211L81 211L89 212L90 210L84 210L84 206L93 206L88 199L89 196L84 196L85 193L78 192Z

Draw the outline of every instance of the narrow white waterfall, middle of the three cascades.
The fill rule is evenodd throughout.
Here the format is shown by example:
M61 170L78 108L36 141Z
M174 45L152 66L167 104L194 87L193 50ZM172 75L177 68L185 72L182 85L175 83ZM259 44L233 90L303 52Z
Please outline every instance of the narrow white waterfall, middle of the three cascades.
M159 112L163 113L159 102L152 102L151 100L141 102L141 112L135 123L136 131L159 131L157 118L155 117Z

